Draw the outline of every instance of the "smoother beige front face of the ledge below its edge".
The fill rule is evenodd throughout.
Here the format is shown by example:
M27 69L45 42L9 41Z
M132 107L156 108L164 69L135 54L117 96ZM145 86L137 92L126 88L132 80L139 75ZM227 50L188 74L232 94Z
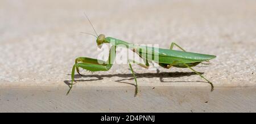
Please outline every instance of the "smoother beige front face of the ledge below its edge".
M255 88L0 88L0 112L256 112Z

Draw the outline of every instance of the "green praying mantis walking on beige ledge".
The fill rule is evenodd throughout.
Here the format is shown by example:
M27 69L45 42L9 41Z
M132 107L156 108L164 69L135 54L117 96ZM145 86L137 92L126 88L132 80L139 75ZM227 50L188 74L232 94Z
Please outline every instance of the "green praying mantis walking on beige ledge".
M201 76L201 78L205 79L211 86L211 91L213 91L213 83L210 82L208 79L206 79L203 75L201 75L199 72L192 69L193 66L199 65L201 62L209 62L210 59L216 58L215 55L209 55L209 54L200 54L200 53L191 53L186 52L183 48L181 48L179 45L175 44L175 42L171 43L170 49L162 49L162 48L154 48L149 46L141 46L141 45L134 45L130 44L129 42L115 39L113 37L105 37L105 35L100 34L97 35L96 30L94 29L92 23L90 22L88 16L85 14L86 18L88 19L88 22L93 28L93 31L96 33L96 35L93 35L92 33L86 33L88 35L93 35L97 38L97 46L100 48L103 44L111 44L109 57L107 61L103 61L100 59L94 59L94 58L88 58L88 57L78 57L75 60L75 64L73 65L72 72L71 72L71 79L72 83L71 86L69 86L68 93L71 91L73 87L73 82L75 82L75 70L79 75L80 71L79 68L85 69L90 72L95 71L108 71L112 68L113 62L115 60L115 53L116 48L121 46L124 48L127 48L129 50L132 50L134 53L138 54L139 57L141 57L144 61L144 63L136 62L134 60L128 59L129 67L131 70L131 73L133 74L134 80L135 80L135 96L138 93L138 83L137 78L134 74L133 67L131 66L131 63L135 63L141 67L144 67L148 69L149 62L155 62L158 63L159 66L164 67L166 69L170 69L171 67L178 67L178 68L188 68L195 72L197 75ZM84 33L84 32L81 32ZM173 50L173 47L177 46L177 48L181 50ZM157 58L157 59L155 59Z

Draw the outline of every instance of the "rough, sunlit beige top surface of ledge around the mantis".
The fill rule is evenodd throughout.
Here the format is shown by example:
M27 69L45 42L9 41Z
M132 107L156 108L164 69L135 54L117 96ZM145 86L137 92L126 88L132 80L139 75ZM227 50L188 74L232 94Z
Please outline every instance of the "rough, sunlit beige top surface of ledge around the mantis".
M217 88L255 87L255 6L256 1L234 0L1 0L0 85L7 89L29 85L68 89L75 58L97 58L100 53L94 37L79 33L93 32L84 18L86 12L96 31L106 36L136 44L159 44L161 48L169 48L175 41L189 52L217 55L211 65L194 68L204 72ZM128 69L128 65L114 65L108 72L84 71L85 76L76 76L73 92L89 86L134 88L129 84L134 80ZM209 89L188 69L160 68L156 74L134 65L134 70L141 86Z

